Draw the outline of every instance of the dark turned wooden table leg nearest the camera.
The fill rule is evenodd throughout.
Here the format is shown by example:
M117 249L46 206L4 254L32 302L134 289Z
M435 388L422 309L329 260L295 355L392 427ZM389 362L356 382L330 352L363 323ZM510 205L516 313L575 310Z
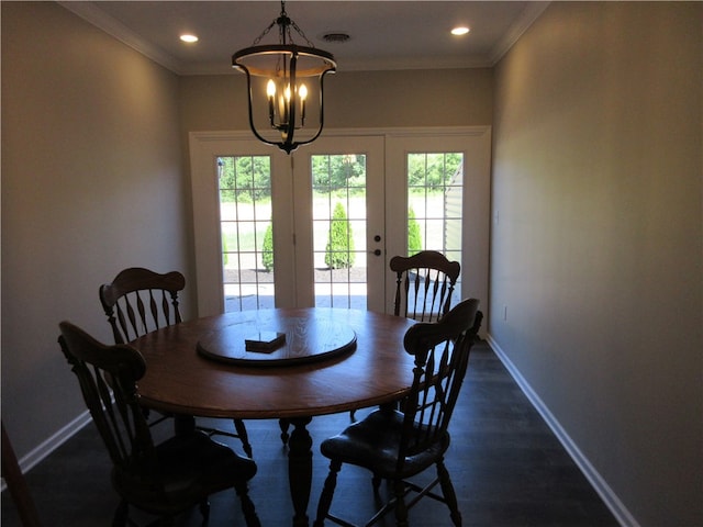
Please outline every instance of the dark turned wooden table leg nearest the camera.
M308 527L308 502L312 486L312 438L305 426L312 417L290 419L293 431L288 440L288 480L293 500L293 526Z

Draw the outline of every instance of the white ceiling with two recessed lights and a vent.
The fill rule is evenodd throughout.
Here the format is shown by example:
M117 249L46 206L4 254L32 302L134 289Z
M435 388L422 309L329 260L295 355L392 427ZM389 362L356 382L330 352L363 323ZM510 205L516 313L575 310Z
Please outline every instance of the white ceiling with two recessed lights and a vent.
M232 71L279 15L279 1L64 1L65 8L179 75ZM338 71L490 67L539 16L540 1L289 0L288 15L315 46L334 54ZM471 31L451 36L457 24ZM180 42L191 32L196 44ZM346 33L345 43L322 40ZM274 27L261 44L277 40ZM295 37L295 35L293 35ZM308 45L304 41L294 42Z

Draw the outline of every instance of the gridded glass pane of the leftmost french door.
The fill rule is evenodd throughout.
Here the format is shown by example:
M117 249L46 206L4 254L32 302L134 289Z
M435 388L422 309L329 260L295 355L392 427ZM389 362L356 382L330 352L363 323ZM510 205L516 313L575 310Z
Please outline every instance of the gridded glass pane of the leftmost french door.
M217 158L224 311L274 307L269 156Z

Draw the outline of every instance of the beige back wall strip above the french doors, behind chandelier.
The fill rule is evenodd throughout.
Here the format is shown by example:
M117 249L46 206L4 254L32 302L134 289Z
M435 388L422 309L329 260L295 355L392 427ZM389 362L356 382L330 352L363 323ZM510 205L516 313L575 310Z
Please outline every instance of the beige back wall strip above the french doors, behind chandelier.
M489 125L492 87L488 68L337 72L325 78L325 127ZM186 135L248 130L244 75L182 77L180 94Z

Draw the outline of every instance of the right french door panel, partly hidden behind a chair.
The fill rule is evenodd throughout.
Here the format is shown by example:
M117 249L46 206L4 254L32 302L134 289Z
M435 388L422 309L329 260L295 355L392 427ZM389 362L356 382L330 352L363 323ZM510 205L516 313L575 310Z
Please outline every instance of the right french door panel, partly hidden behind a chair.
M490 127L393 131L386 158L389 259L419 249L445 254L461 265L453 305L476 298L488 312ZM392 313L394 277L386 272L386 312Z

